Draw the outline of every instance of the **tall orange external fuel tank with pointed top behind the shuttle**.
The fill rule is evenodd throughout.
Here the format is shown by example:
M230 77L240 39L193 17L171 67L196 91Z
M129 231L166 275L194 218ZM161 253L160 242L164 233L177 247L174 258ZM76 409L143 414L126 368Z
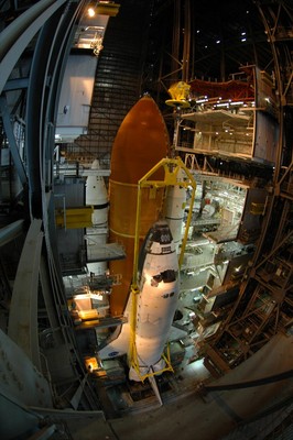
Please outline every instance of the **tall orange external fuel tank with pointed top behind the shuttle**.
M122 277L121 284L113 286L110 296L112 316L122 315L131 285L138 182L166 157L169 147L170 138L159 107L150 96L143 96L122 121L111 153L109 241L121 244L126 252L124 260L110 262L110 272ZM154 179L162 177L161 169L153 175ZM141 242L160 217L162 201L162 188L142 189Z

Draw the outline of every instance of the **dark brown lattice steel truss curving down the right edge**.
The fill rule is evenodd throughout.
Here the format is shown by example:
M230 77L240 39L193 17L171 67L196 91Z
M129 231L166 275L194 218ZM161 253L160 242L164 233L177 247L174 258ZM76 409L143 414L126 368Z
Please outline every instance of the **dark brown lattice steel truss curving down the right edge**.
M258 2L272 48L275 88L279 96L280 136L270 204L261 237L240 286L240 293L217 333L207 340L206 364L224 374L250 358L278 332L293 323L293 262L291 223L292 144L292 13L282 2ZM292 140L291 140L292 141ZM276 217L278 216L278 220ZM291 251L290 251L291 250ZM217 360L219 361L217 364Z

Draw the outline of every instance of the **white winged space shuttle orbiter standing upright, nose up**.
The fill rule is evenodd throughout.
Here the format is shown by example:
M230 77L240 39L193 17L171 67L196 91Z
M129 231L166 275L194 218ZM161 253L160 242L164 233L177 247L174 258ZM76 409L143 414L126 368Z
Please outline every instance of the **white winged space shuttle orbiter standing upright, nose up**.
M166 369L164 346L180 293L178 258L170 227L156 221L145 237L138 266L138 292L129 296L127 322L117 329L101 360L128 354L129 378L142 381Z

